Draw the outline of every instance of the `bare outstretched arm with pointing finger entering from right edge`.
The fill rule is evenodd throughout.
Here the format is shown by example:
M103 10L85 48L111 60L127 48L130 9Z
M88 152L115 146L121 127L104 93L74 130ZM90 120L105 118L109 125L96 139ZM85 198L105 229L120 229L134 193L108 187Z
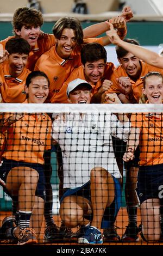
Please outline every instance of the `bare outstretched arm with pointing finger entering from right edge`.
M142 59L144 62L157 66L158 68L163 68L163 57L160 56L158 53L152 52L150 50L147 50L141 46L129 44L128 42L124 42L120 39L120 37L117 35L117 32L115 31L114 27L110 23L110 30L106 32L106 35L109 36L109 40L112 44L121 46L128 52L131 52L139 59Z

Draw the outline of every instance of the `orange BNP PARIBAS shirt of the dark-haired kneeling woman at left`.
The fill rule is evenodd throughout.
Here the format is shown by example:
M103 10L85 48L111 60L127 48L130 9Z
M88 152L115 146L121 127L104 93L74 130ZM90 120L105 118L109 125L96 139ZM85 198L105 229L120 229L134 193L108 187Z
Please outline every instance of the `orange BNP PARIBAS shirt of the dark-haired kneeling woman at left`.
M10 115L6 115L6 119ZM8 126L7 145L3 157L43 164L44 151L51 149L51 130L52 121L47 114L24 114L21 120Z

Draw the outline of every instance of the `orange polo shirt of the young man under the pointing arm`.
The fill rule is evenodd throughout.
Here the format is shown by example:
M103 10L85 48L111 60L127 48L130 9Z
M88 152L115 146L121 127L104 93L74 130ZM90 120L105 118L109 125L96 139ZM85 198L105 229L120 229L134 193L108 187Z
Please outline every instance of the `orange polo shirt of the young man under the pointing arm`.
M140 60L140 63L141 63L141 67L142 67L140 77L137 79L136 82L134 82L130 78L130 82L131 82L131 85L133 88L134 97L137 100L137 102L139 102L139 99L142 96L143 77L148 72L152 72L152 71L160 72L163 75L163 69L159 69L159 68L156 68L155 66L148 65L147 63L142 62L141 60ZM111 81L113 84L106 93L123 93L124 94L123 89L118 85L118 82L116 81L116 78L119 78L122 76L128 77L128 74L124 70L123 66L120 65L115 69L114 73L112 74Z

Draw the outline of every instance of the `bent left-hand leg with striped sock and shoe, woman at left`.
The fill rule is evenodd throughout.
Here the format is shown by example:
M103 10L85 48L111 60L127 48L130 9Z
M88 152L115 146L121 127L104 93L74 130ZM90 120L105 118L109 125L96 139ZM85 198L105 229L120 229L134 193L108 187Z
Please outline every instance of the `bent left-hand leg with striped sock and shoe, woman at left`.
M7 190L12 196L18 195L18 211L20 213L18 245L37 243L35 231L30 228L30 217L38 180L39 173L30 167L12 168L7 177Z

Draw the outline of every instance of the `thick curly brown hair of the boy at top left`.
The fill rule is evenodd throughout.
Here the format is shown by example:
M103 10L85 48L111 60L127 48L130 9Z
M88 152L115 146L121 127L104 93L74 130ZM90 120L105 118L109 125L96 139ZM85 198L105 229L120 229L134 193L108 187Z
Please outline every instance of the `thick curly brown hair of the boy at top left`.
M18 29L21 31L23 26L42 26L43 24L43 16L41 11L37 11L36 9L22 7L18 8L13 17L12 25L14 29Z

